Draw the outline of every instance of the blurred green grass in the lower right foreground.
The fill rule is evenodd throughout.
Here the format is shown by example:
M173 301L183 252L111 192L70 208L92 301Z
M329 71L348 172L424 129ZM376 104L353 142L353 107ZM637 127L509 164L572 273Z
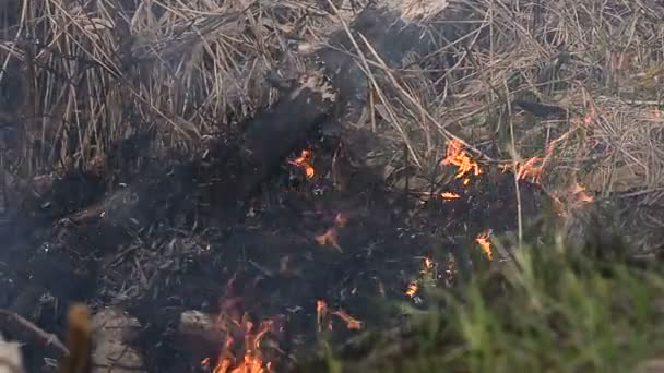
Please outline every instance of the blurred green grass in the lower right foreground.
M633 372L663 351L664 276L605 255L624 248L604 241L602 255L526 246L452 292L430 289L438 305L396 335L368 334L300 371Z

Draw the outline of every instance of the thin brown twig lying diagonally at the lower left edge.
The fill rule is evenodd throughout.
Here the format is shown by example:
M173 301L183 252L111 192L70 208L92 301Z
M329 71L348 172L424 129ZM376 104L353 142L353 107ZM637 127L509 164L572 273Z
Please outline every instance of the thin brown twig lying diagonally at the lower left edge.
M69 349L60 341L58 336L45 332L14 312L0 310L0 330L7 330L20 340L44 347L50 356L57 358L69 356Z

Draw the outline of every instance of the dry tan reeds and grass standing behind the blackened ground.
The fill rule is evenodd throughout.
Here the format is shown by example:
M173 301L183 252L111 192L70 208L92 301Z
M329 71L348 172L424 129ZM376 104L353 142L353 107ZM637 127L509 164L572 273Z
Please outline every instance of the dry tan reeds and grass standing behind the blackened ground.
M538 3L386 0L439 48L388 68L354 35L349 52L369 76L369 105L345 130L380 140L364 156L386 175L404 168L404 144L407 163L426 176L451 137L487 165L542 155L555 142L547 189L573 179L602 197L629 193L632 202L659 206L664 7L654 0ZM328 0L9 2L5 13L15 9L20 16L4 21L0 83L21 76L14 92L22 99L0 109L13 110L9 117L22 125L7 158L24 176L87 166L114 140L151 125L164 147L195 147L201 135L273 103L276 92L263 73L301 71L293 46L305 53L324 46L333 29L349 32L361 7ZM449 27L456 28L453 39L443 33ZM570 115L537 120L512 105L514 98L556 104ZM660 209L639 216L662 227L664 218L652 213Z

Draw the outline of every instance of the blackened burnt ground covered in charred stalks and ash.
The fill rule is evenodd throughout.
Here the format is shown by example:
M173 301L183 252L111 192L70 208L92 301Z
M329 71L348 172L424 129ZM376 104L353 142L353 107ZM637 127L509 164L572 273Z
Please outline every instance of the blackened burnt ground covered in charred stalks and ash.
M252 320L280 315L280 348L297 357L318 338L317 300L346 310L368 329L399 324L398 304L413 303L404 290L423 256L447 263L451 253L463 270L477 234L515 229L510 173L489 170L469 186L453 180L444 190L461 198L423 201L388 188L378 170L354 165L340 152L340 139L318 135L300 147L313 152L312 179L281 159L239 203L228 185L241 167L216 152L230 137L220 139L226 143L211 141L193 158L168 159L127 156L146 141L132 145L138 140L130 139L118 146L122 159L107 160L102 171L52 179L4 227L0 281L8 290L0 306L56 334L69 302L120 306L143 326L131 344L149 371L187 372L200 370L195 362L218 347L192 354L177 338L180 314L218 314L234 302ZM524 216L536 216L543 194L527 183L520 190ZM347 219L343 227L335 224L339 214ZM328 229L336 231L336 246L317 242ZM337 342L358 333L334 325ZM31 371L49 371L44 349L24 349Z

